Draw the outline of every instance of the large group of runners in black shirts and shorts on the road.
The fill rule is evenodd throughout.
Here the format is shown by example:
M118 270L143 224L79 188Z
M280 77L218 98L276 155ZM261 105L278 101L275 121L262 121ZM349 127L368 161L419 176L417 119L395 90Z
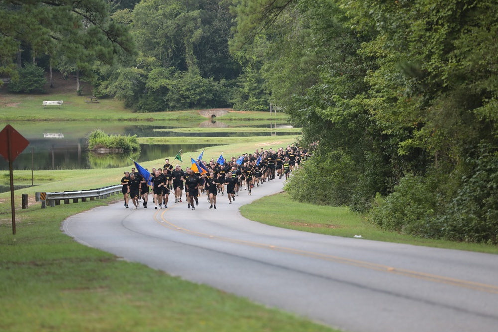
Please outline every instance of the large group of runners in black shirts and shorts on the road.
M149 177L150 188L147 183L149 179L145 179L135 168L131 168L130 172L124 172L121 179L124 206L129 208L131 198L134 209L140 207L140 200L143 201L143 207L147 208L149 194L152 193L155 209L167 208L170 195L175 197L175 203L181 203L185 193L188 208L195 210L199 205L200 196L206 194L209 208L216 209L218 194L224 196L226 193L229 204L232 204L242 190L252 195L252 189L266 181L288 179L292 170L299 167L307 156L306 150L298 149L294 144L277 150L261 148L256 149L254 153L231 157L230 160L221 157L217 161L197 160L197 165L207 170L203 174L198 171L198 167L194 167L194 170L186 167L183 170L180 165L173 166L169 159L165 159L162 168L152 168Z

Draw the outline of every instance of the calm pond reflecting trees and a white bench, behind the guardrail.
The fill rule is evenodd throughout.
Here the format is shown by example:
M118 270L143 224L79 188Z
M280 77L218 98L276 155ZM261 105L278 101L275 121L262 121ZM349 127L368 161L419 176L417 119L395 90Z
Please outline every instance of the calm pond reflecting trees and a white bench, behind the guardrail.
M217 122L218 125L222 124ZM250 123L250 122L248 122ZM96 169L124 167L130 164L130 157L138 162L161 159L174 156L182 149L193 151L212 145L206 144L164 144L140 145L140 151L135 154L94 154L87 151L88 135L95 129L101 129L107 134L137 135L138 137L168 137L168 136L208 136L208 137L245 137L274 135L271 132L209 132L181 133L160 131L184 127L168 122L167 125L133 124L125 121L94 122L94 121L61 121L61 122L0 122L0 130L10 124L23 135L29 146L15 159L14 170L56 170L56 169ZM199 124L197 124L200 126ZM274 128L275 123L254 125L253 127ZM285 125L283 123L282 125ZM223 125L221 127L228 127ZM248 125L247 127L250 127ZM158 130L159 129L159 130ZM295 135L295 132L278 132L278 135ZM8 163L0 158L0 170L8 170Z

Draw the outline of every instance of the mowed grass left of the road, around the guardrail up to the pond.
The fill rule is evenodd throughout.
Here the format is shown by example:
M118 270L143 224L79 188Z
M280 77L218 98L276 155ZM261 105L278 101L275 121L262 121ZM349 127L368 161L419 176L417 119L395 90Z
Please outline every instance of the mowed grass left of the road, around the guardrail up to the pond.
M235 154L268 143L261 139L227 145L226 151ZM204 155L218 157L218 151L208 148ZM185 151L180 164L190 165L186 155L199 153ZM144 166L163 163L153 160ZM16 235L9 193L0 194L0 331L335 331L88 248L61 232L66 218L121 200L121 195L43 210L41 203L33 202L36 191L118 184L130 167L36 171L35 183L40 185L15 191ZM1 171L0 181L5 180L8 171ZM28 181L31 171L14 172L14 183ZM30 198L26 210L20 209L22 194Z

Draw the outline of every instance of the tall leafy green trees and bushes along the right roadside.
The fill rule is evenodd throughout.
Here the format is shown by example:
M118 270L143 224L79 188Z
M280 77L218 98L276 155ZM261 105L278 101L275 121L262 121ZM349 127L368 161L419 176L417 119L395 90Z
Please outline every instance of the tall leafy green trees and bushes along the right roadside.
M270 99L316 146L294 197L498 242L496 1L240 3L232 47L260 61Z

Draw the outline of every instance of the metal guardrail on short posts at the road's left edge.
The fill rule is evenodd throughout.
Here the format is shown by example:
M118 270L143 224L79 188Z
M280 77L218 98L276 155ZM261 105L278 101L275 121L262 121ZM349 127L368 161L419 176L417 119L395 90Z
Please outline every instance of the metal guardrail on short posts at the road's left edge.
M77 190L55 193L37 192L36 202L41 202L42 209L46 208L47 203L53 208L56 205L60 205L61 201L64 201L64 204L69 204L70 200L73 200L73 203L78 203L79 200L81 200L81 202L86 202L87 198L90 199L90 201L95 200L95 198L107 198L111 195L121 192L122 188L122 185L115 185L92 190Z

